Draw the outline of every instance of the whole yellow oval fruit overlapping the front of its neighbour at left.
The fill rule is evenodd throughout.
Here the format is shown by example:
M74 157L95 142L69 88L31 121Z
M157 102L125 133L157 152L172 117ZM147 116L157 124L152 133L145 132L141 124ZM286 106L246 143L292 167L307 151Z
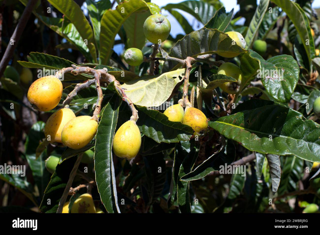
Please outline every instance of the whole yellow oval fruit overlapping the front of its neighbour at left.
M93 139L97 129L97 121L90 116L75 117L63 127L61 132L62 143L73 149L83 148Z

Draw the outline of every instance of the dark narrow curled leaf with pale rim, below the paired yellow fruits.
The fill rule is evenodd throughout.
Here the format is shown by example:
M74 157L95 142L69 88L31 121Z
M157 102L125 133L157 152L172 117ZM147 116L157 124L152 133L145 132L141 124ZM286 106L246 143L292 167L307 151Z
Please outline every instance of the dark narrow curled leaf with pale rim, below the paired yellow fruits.
M181 177L181 181L201 179L212 171L219 171L220 166L230 165L236 157L236 147L231 140L227 140L226 146L222 145L219 152L211 155L203 163L196 167L190 173ZM224 151L221 150L224 148ZM221 152L220 152L221 151Z

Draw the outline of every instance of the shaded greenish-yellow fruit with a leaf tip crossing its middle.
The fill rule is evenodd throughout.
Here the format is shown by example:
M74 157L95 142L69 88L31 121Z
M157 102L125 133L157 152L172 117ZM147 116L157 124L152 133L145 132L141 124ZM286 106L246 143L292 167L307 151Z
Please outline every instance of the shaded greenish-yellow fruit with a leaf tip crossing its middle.
M218 74L224 74L233 77L237 82L225 82L219 87L229 94L236 94L240 90L243 74L238 66L230 62L222 64L218 69Z

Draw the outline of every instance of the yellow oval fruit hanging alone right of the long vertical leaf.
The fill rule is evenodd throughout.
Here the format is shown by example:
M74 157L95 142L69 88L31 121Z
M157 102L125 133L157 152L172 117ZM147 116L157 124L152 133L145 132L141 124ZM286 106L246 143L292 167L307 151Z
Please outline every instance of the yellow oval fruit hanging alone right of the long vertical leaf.
M118 157L134 158L141 146L141 134L134 121L127 121L117 130L113 138L113 151Z

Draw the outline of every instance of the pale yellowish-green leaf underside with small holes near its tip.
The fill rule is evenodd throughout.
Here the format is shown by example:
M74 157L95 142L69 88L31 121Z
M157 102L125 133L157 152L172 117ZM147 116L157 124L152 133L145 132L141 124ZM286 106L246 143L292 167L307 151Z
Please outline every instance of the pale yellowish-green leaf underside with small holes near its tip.
M136 105L157 107L164 103L182 80L186 69L146 76L124 83L125 94Z

